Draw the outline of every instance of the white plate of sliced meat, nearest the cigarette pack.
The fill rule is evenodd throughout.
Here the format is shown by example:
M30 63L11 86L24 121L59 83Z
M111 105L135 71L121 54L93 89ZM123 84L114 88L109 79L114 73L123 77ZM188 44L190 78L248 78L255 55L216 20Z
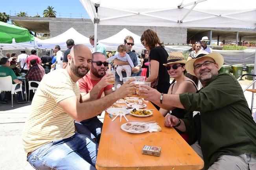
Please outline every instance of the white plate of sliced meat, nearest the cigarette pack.
M132 134L141 134L149 131L149 125L142 122L130 122L121 125L121 129L125 132L129 132Z

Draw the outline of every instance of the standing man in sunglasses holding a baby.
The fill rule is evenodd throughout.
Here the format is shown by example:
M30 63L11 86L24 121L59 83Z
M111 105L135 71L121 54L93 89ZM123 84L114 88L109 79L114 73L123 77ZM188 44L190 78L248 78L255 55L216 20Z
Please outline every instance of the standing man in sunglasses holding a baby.
M137 56L137 54L135 52L132 52L131 49L133 48L133 45L134 45L134 39L132 36L126 36L125 39L124 39L124 43L123 45L125 45L126 47L126 50L127 50L127 54L130 56L131 60L133 61L133 69L132 69L132 74L131 76L134 76L134 73L136 72L139 72L140 71L140 61L139 61L139 58ZM114 60L114 65L128 65L129 62L128 61L120 61L120 60L117 60L115 59ZM122 72L122 75L123 75L123 78L124 77L127 77L126 75L126 72ZM115 75L115 84L114 84L114 87L116 89L116 86L118 84L123 84L123 81L120 81L120 77L118 76L117 72L116 72L116 75Z

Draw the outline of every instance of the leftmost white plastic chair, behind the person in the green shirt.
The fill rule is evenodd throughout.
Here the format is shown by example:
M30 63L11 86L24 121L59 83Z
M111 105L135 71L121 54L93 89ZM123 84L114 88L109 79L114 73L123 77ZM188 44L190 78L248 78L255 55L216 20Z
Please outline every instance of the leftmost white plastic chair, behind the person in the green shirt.
M20 83L13 84L11 76L0 77L0 93L5 91L11 91L11 107L13 107L13 94L15 94L15 92L21 92L23 99L22 85L20 85L20 88L15 90L18 84Z

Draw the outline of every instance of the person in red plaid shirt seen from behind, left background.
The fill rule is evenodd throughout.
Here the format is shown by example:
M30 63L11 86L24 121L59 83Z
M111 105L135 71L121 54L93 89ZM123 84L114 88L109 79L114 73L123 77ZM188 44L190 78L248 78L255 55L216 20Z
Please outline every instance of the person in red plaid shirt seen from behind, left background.
M30 60L30 65L31 66L28 70L28 73L25 75L25 77L29 81L41 81L45 74L44 67L37 64L37 61L35 59ZM31 87L38 87L38 84L32 82ZM30 96L31 96L31 98L33 98L33 96L34 96L33 90L30 91Z

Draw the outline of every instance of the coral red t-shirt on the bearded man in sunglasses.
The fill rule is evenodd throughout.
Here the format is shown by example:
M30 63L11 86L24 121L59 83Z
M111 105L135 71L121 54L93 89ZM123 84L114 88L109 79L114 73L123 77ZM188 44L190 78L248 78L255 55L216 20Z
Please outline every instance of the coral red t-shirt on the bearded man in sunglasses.
M90 90L92 90L92 88L101 80L101 79L92 80L90 77L90 74L91 73L89 72L88 74L83 76L83 78L80 78L78 80L80 92L84 92L84 93L90 92ZM106 87L102 88L98 94L97 99L101 98L101 95L105 90L112 89L112 87L113 85L107 85Z

